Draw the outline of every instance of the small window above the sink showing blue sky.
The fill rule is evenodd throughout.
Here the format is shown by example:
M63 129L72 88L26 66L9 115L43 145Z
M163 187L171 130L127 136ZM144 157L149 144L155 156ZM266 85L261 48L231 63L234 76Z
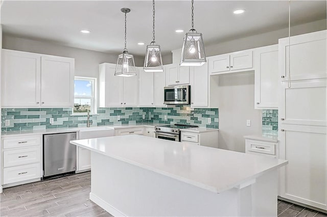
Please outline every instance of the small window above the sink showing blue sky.
M73 114L97 113L96 84L97 78L75 77Z

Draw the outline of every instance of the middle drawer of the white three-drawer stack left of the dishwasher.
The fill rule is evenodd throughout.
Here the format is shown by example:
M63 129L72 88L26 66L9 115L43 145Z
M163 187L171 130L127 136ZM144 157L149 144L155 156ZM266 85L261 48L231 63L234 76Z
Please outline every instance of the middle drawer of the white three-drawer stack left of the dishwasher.
M4 151L4 167L40 162L40 147Z

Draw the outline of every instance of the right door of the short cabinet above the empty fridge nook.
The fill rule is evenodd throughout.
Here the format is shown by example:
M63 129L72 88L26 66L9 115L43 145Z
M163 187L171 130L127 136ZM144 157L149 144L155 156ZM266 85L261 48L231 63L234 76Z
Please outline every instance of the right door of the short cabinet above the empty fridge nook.
M233 52L230 54L230 70L252 68L252 50Z

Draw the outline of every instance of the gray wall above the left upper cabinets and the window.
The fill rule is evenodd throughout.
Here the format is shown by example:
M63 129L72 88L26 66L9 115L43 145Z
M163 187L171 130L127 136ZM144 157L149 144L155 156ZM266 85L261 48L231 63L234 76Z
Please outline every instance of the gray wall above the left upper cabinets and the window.
M75 58L75 75L97 77L100 63L116 63L119 53L104 53L54 43L3 35L3 48ZM143 66L144 58L134 56L136 66Z

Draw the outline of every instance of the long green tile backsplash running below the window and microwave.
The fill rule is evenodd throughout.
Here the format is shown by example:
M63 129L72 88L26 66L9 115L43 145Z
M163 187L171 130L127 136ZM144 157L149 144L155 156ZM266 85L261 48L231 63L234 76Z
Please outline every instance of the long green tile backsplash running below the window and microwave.
M176 107L111 107L98 108L92 115L92 126L135 124L143 122L191 124L218 128L218 108ZM143 115L145 118L143 119ZM167 120L165 120L167 115ZM118 120L118 116L121 116ZM86 127L87 116L72 116L71 108L2 108L2 131L36 130L48 128ZM50 124L54 118L54 124ZM208 118L211 123L208 123ZM10 126L5 126L10 120Z

